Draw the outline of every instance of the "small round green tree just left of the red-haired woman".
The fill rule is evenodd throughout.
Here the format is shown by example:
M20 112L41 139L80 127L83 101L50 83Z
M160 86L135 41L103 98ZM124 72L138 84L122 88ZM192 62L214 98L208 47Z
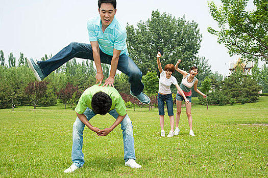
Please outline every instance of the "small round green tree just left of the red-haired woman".
M142 82L144 83L144 92L146 92L150 98L151 94L155 94L158 91L159 78L156 72L147 72L142 76ZM149 110L151 110L152 103L149 104Z

